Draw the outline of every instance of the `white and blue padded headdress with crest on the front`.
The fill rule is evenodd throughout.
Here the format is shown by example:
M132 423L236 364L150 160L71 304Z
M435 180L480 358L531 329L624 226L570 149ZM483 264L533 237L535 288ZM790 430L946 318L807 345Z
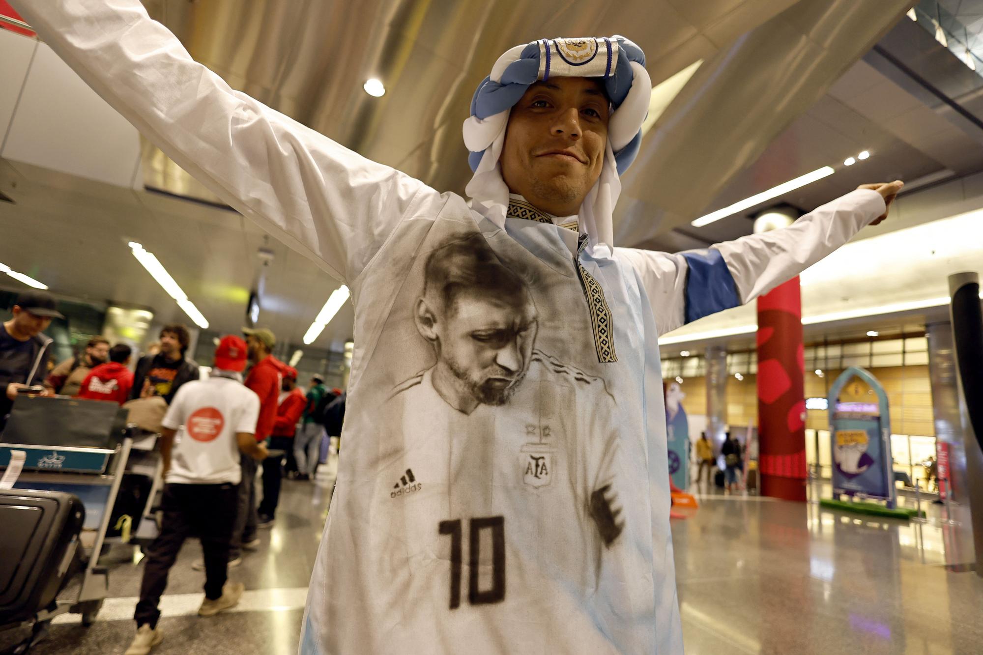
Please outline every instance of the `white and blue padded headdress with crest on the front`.
M464 144L475 175L467 193L473 206L503 223L508 188L501 179L498 157L512 107L536 82L551 77L601 78L612 113L607 124L607 149L601 178L579 212L581 231L592 244L612 246L611 212L621 192L618 176L638 154L642 122L648 113L652 83L645 53L623 36L540 39L517 45L498 58L492 74L478 86L471 116L464 121Z

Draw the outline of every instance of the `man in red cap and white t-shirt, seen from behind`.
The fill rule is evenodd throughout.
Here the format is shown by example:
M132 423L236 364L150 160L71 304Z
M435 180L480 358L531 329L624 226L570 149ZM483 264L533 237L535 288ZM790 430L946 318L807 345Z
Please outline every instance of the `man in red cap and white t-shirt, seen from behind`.
M226 583L242 478L239 452L257 460L267 454L254 438L260 398L242 384L246 359L245 341L223 337L215 350L211 377L178 389L164 416L160 439L164 518L160 536L146 553L134 613L137 637L126 655L146 655L163 638L157 627L157 604L167 586L167 573L190 534L199 535L204 552L204 601L199 615L214 616L234 607L242 596L241 582Z

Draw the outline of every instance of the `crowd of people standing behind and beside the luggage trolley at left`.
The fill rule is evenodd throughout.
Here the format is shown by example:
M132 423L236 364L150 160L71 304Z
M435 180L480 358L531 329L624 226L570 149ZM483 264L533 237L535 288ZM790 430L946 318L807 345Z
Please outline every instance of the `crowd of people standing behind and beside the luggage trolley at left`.
M284 475L316 477L322 442L340 435L344 394L318 375L307 390L298 387L298 371L272 355L276 336L265 327L219 339L204 376L187 356L191 334L179 324L162 327L131 371L133 349L102 336L53 366L44 330L64 316L46 291L20 294L12 314L0 324L0 434L18 396L31 394L116 402L130 423L160 435L162 519L146 550L138 631L127 654L148 653L162 638L157 605L190 535L202 542L202 561L193 565L206 579L199 614L235 606L243 585L228 581L228 568L259 547L258 530L273 525Z

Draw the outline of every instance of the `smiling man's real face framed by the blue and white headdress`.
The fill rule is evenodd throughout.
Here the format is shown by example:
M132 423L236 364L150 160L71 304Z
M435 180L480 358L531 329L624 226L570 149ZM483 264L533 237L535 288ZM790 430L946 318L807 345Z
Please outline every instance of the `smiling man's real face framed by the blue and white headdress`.
M607 96L590 78L552 78L526 90L509 115L501 171L509 191L568 216L601 176Z

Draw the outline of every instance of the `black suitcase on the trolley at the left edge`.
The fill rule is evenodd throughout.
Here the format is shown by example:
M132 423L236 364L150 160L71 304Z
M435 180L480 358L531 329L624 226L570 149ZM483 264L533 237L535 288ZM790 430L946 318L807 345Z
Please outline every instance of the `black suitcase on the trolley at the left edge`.
M72 494L0 490L0 626L30 621L54 604L85 519Z

